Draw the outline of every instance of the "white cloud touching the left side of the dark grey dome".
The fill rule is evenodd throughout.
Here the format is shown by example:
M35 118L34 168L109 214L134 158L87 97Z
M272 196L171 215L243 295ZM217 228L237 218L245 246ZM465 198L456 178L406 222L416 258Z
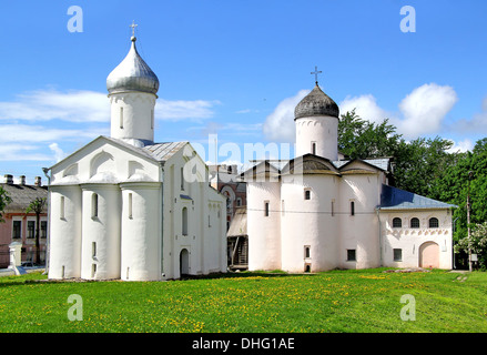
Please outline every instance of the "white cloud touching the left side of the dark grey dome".
M281 101L275 110L265 119L262 126L265 138L272 142L294 142L294 109L310 90L301 90L292 98Z

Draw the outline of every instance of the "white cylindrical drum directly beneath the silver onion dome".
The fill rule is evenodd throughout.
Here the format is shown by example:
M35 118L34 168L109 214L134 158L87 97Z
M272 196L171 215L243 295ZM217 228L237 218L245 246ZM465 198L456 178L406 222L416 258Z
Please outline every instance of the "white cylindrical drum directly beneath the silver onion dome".
M153 110L156 97L144 92L122 92L110 95L111 136L154 141ZM121 128L121 109L123 126Z

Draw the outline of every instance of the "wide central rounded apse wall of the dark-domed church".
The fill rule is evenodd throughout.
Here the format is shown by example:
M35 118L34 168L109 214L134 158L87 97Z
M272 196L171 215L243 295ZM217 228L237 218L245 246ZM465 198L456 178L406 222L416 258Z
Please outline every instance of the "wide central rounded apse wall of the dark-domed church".
M288 178L288 176L287 176ZM303 183L283 176L281 203L282 268L288 272L332 270L337 266L338 217L332 215L332 201L338 199L339 178L306 174ZM311 199L305 200L305 190ZM305 257L310 246L310 257Z

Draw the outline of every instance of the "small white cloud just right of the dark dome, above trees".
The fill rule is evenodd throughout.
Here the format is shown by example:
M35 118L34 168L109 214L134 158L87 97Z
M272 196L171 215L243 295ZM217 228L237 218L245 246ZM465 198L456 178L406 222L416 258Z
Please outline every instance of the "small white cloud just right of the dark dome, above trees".
M377 100L372 94L364 94L359 97L346 97L339 103L341 114L355 109L355 113L364 120L381 123L390 114L378 106Z

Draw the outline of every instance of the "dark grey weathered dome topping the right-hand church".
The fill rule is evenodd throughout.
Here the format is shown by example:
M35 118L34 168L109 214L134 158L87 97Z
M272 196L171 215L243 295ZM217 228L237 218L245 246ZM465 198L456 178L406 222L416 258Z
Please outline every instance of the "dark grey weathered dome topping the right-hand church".
M315 115L339 116L338 105L317 84L294 109L295 120Z

